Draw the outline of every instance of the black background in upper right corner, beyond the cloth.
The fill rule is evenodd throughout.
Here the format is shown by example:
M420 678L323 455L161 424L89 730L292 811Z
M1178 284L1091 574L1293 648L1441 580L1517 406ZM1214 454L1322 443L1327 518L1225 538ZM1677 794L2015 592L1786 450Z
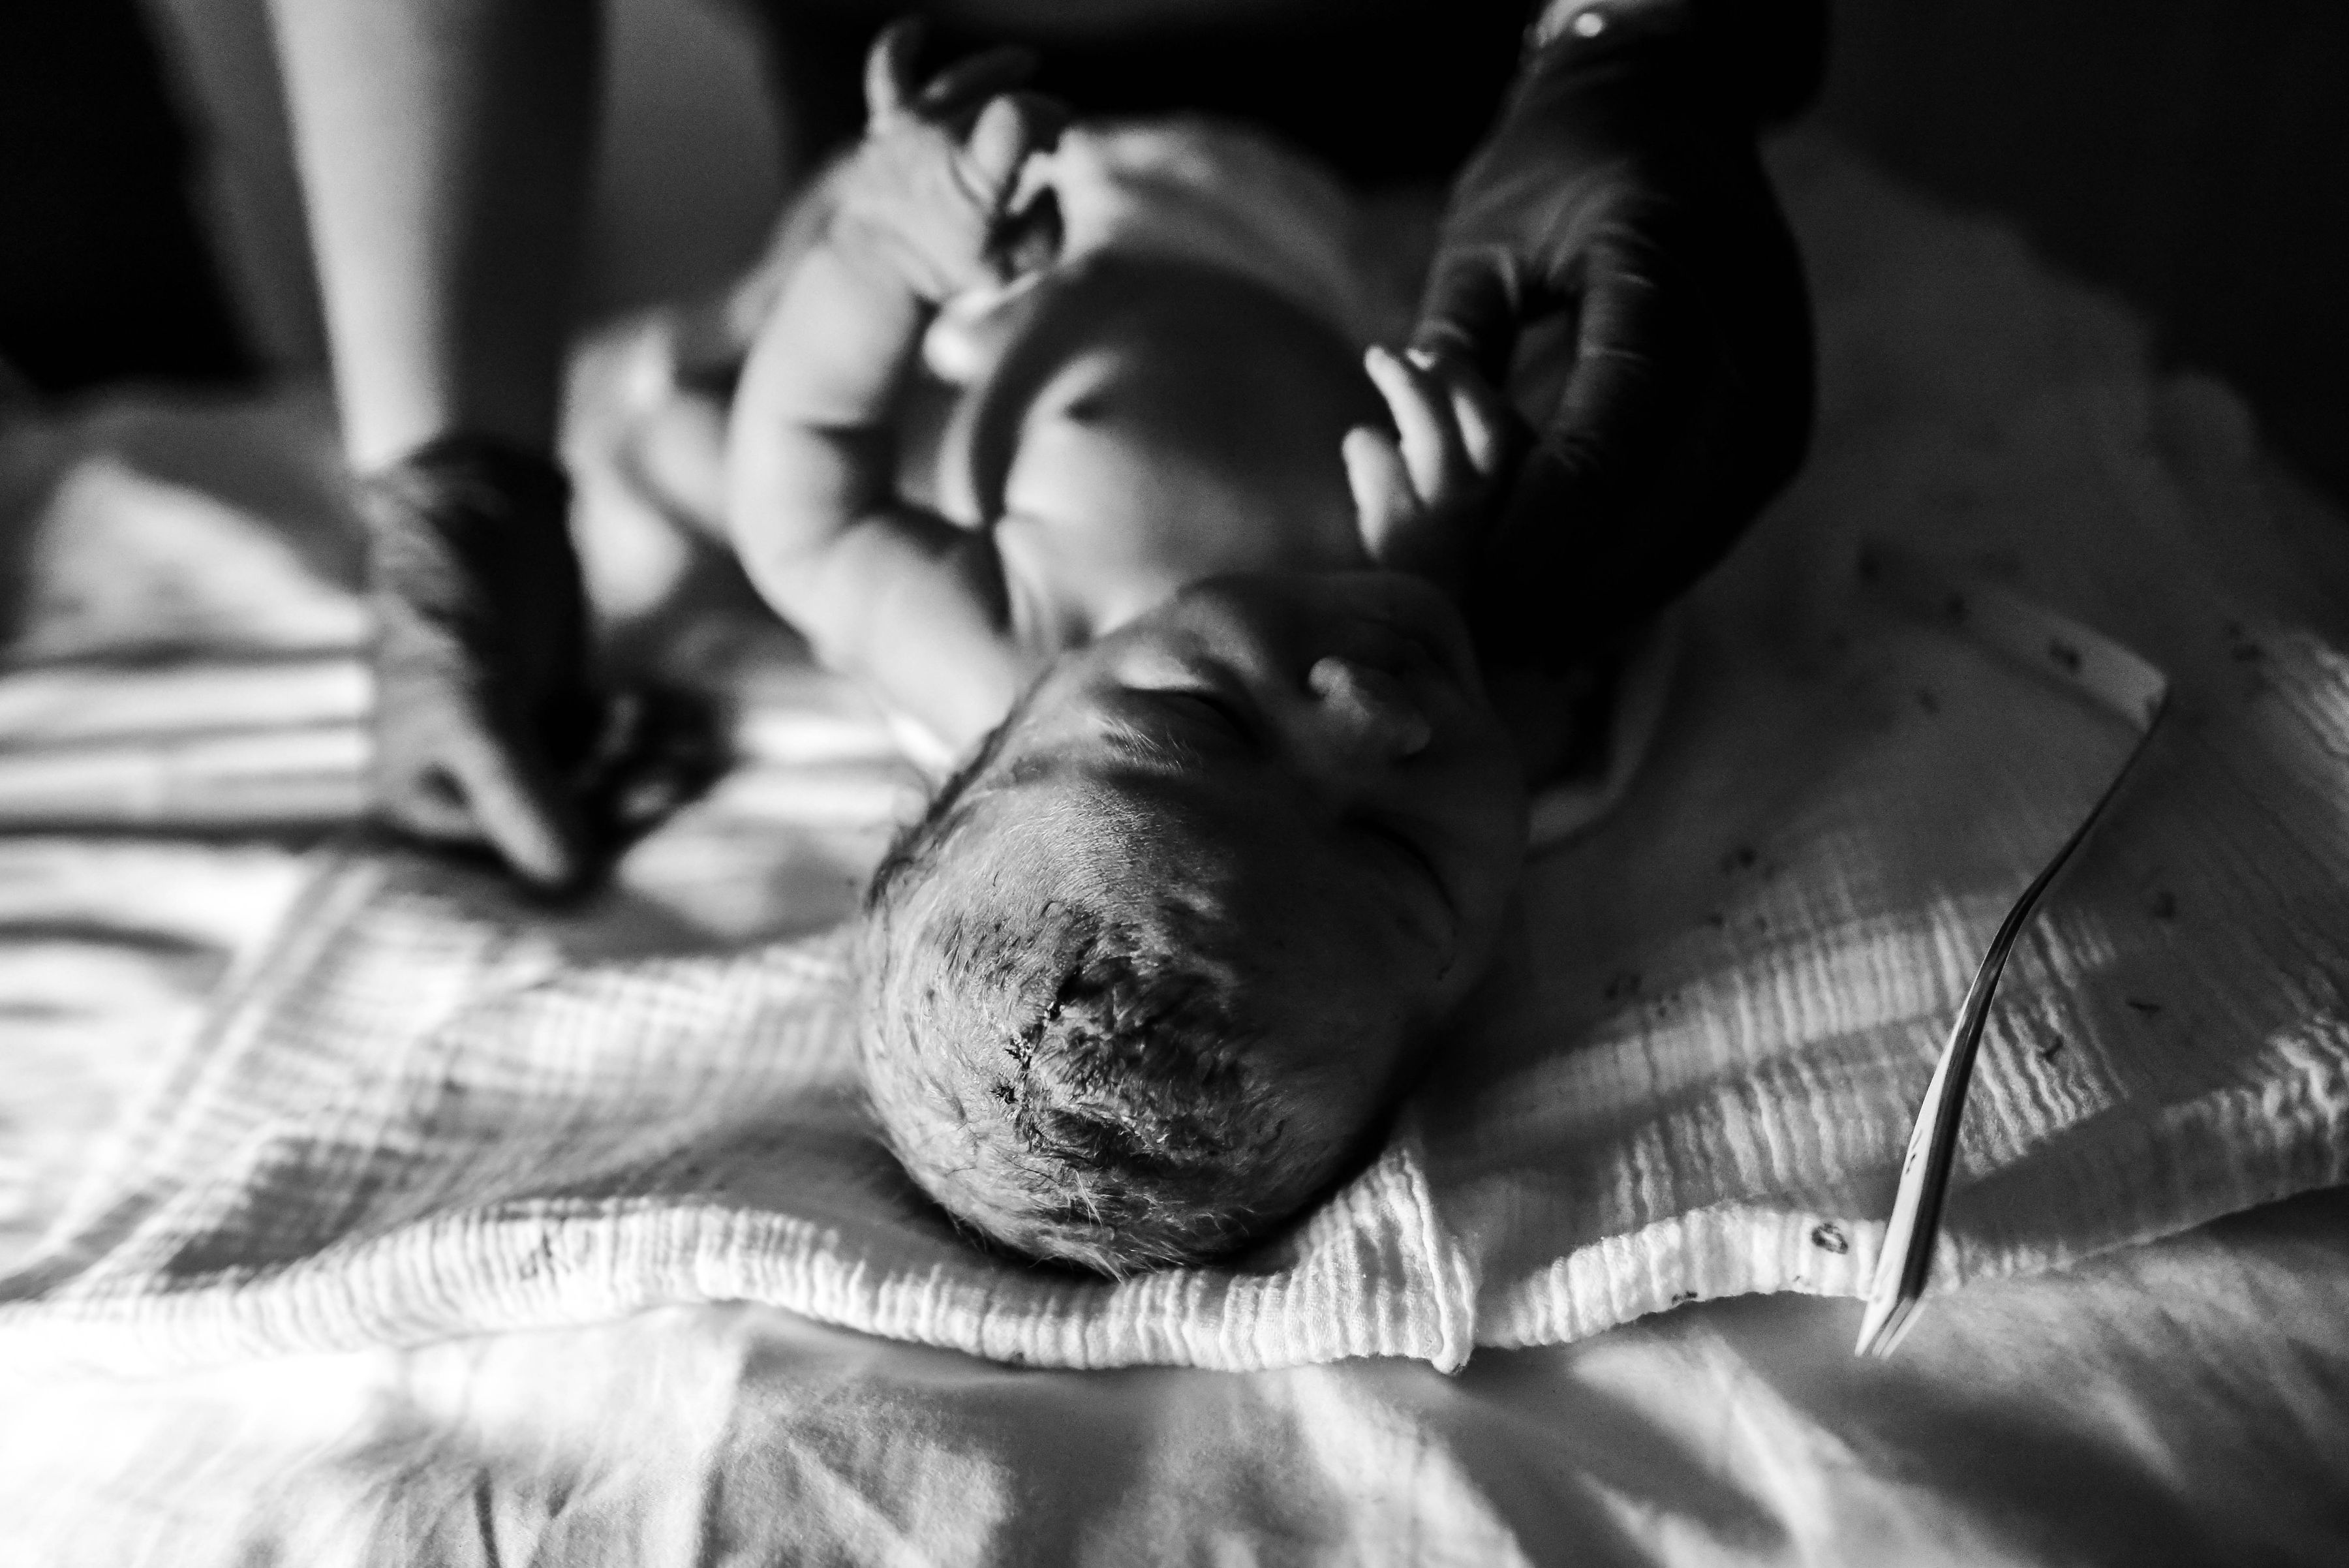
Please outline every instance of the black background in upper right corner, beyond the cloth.
M2166 359L2232 380L2349 502L2349 5L1835 12L1828 127L2128 296Z

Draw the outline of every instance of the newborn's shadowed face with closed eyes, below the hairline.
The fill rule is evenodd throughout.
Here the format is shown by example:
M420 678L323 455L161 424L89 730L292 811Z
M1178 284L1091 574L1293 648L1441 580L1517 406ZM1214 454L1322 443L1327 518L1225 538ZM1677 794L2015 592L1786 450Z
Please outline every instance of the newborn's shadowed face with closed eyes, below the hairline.
M1236 904L1217 913L1318 993L1297 1005L1341 986L1393 1038L1482 976L1525 857L1517 761L1466 627L1400 573L1177 594L1064 655L989 779L991 810L1031 822L1179 824L1174 852L1214 861L1200 883Z

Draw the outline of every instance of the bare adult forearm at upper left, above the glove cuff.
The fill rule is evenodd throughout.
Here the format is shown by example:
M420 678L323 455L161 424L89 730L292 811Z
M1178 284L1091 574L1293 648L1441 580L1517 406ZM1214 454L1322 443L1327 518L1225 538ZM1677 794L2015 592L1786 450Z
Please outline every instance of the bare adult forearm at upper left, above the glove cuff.
M350 458L554 437L594 0L272 0Z

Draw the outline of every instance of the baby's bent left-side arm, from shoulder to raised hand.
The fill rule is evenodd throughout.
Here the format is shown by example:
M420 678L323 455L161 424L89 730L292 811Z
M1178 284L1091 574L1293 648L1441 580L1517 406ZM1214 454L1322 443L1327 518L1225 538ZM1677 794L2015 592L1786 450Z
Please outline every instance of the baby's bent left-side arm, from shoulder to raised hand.
M989 533L897 493L897 401L937 303L996 279L989 249L1043 113L991 96L1015 70L1003 56L914 92L909 54L909 28L874 47L864 143L827 181L824 235L752 345L728 430L728 526L752 582L817 657L961 746L1003 716L1027 664L1005 636Z

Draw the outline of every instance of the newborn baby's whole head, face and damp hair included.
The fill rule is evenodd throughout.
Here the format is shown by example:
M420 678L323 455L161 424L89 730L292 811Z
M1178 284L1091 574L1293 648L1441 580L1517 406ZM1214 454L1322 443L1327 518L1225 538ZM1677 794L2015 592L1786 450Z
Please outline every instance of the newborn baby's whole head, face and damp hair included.
M874 1106L914 1178L1022 1253L1226 1253L1379 1134L1522 852L1440 594L1193 587L1062 657L874 876Z

